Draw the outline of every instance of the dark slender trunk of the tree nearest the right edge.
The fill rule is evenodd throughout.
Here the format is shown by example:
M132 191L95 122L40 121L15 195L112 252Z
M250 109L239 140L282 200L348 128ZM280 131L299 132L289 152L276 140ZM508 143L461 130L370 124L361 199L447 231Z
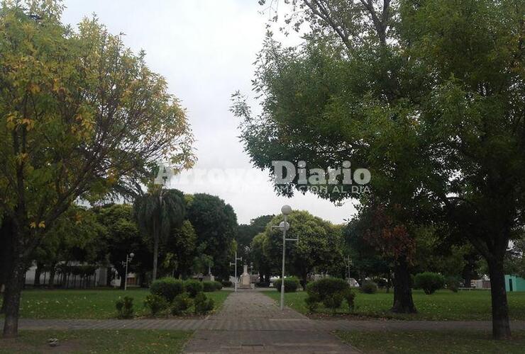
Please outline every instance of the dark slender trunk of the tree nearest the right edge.
M487 262L492 295L492 336L494 339L510 338L509 306L505 290L503 257Z

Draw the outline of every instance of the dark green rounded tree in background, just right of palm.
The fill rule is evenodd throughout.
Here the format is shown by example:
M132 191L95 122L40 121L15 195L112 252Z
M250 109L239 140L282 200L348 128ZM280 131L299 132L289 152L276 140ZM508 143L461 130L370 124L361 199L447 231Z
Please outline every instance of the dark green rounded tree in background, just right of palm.
M197 193L187 200L187 219L197 233L199 254L213 262L214 274L227 278L238 227L233 207L215 195Z

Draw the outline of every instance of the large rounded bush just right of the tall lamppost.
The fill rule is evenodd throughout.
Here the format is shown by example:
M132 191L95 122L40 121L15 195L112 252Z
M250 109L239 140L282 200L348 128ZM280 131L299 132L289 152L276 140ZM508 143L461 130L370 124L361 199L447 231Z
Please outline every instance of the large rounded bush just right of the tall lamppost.
M336 312L336 309L341 307L343 300L347 299L348 307L353 309L353 292L350 290L350 285L339 278L324 278L317 280L316 282L310 282L306 285L306 306L311 312L316 310L319 302L322 302L324 307L332 309L332 312Z

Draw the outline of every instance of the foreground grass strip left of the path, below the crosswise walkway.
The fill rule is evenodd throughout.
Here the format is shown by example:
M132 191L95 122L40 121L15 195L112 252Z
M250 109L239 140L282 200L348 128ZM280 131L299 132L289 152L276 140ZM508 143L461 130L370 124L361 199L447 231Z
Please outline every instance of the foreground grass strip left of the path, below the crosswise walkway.
M18 338L0 338L0 353L182 353L192 331L75 330L20 331ZM50 347L49 338L59 345Z

